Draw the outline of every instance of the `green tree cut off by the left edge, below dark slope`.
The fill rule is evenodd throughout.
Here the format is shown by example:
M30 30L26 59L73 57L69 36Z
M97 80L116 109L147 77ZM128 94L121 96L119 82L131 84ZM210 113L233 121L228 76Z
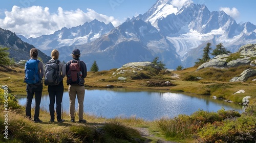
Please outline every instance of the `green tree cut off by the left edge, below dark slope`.
M14 59L9 58L8 47L0 47L0 65L11 65L14 64Z

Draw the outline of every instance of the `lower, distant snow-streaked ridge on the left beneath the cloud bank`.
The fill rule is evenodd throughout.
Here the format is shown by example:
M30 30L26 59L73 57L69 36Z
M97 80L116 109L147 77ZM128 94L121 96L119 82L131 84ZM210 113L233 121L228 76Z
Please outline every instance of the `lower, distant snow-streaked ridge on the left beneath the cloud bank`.
M51 35L42 35L37 38L28 39L22 35L19 35L19 37L23 41L33 44L38 49L50 55L49 52L53 49L58 49L61 46L79 45L94 41L101 35L110 32L112 29L114 29L112 23L106 25L104 22L94 19L91 22L86 22L77 27L69 29L64 27Z

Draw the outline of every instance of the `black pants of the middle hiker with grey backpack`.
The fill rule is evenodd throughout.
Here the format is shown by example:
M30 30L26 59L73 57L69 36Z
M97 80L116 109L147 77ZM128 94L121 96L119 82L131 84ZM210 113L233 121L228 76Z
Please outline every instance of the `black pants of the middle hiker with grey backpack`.
M63 92L64 92L63 81L61 81L59 85L55 85L55 86L48 85L48 93L50 98L49 111L51 115L51 121L54 121L55 101L56 101L57 120L61 120L61 102L62 102Z

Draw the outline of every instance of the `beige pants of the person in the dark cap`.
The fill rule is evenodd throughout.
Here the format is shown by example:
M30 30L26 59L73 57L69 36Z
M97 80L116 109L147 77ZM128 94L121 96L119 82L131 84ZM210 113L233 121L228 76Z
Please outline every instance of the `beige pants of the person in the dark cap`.
M83 119L83 99L84 99L84 86L69 85L69 116L75 118L75 100L77 96L78 101L78 116L79 120Z

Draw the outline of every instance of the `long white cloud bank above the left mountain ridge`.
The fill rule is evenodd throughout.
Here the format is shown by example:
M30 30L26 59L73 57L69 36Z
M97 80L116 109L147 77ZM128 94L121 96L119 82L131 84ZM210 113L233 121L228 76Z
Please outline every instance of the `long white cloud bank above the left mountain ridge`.
M115 27L121 23L113 16L99 14L92 9L87 9L87 12L80 9L65 11L59 7L57 13L50 13L48 7L20 8L13 6L11 11L5 11L5 18L0 19L0 27L28 38L52 34L63 27L76 27L94 19L106 24L112 22Z

